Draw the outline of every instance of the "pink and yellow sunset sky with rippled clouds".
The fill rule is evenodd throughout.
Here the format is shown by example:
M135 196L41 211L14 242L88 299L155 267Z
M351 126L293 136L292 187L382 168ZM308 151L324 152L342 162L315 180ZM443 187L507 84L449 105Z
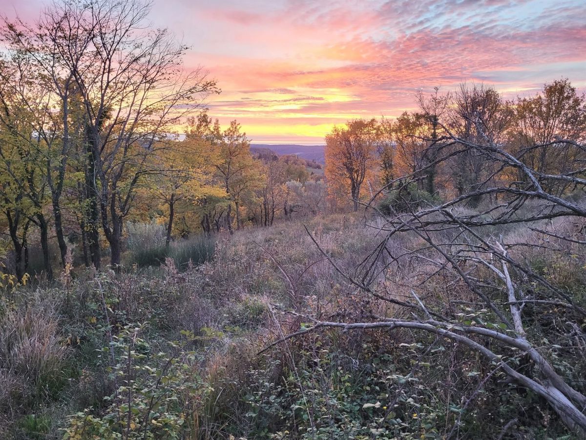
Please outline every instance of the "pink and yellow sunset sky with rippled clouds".
M42 0L0 0L38 18ZM152 0L253 143L323 144L334 124L415 110L418 90L492 84L505 97L567 77L586 90L584 0Z

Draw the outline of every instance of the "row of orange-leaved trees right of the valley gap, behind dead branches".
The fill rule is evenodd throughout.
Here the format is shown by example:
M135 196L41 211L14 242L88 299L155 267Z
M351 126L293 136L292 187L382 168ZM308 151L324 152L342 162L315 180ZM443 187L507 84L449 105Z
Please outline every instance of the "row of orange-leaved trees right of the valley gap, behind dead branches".
M380 194L379 188L387 193L396 178L414 177L402 195L417 190L419 197L445 198L472 191L478 195L469 206L478 207L494 198L481 194L482 188L527 180L523 172L503 169L466 145L486 143L487 137L540 174L582 172L584 150L577 144L586 137L586 98L568 79L515 100L504 99L492 86L461 84L454 92L418 93L417 101L417 111L394 121L352 120L326 136L325 174L333 196L351 199L357 211L374 192ZM466 143L453 143L454 137ZM557 195L578 188L571 180L538 180Z

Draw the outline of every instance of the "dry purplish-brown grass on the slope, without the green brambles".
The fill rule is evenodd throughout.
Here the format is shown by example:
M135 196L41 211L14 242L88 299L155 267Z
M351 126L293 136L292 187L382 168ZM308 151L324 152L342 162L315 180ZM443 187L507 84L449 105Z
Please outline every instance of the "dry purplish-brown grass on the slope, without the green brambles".
M382 223L377 218L369 219L365 226L361 214L324 216L237 231L231 237L220 236L213 261L185 272L168 259L161 268L98 275L100 289L114 309L108 312L110 319L120 325L148 322L149 341L156 350L166 350L165 341L180 339L180 330L191 330L200 338L197 349L203 353L203 360L199 368L214 390L203 412L197 415L197 429L202 438L227 438L228 425L237 427L234 429L243 435L252 429L252 422L246 417L250 409L246 401L258 384L253 383L251 371L261 371L268 383L277 384L287 377L295 377L295 368L300 363L311 362L325 352L336 353L336 365L357 371L357 368L370 368L369 360L363 358L365 350L374 353L372 356L397 353L399 357L400 351L394 350L400 344L421 341L421 335L412 331L345 334L325 331L290 340L265 356L256 356L283 334L299 329L302 320L282 313L282 309L338 321L372 319L370 314L411 316L411 310L382 302L350 285L315 246L304 225L338 268L356 277L361 275L356 266L383 239L379 231ZM578 238L584 225L558 219L536 227ZM543 267L536 270L551 282L568 289L586 285L582 279L584 270L576 270L586 264L581 245L561 242L522 226L502 230L486 228L483 233L498 234L503 242L518 244L511 248L511 255L532 267L541 264ZM453 234L438 234L435 239L451 243ZM548 246L547 254L540 247L544 245ZM413 302L416 293L429 307L446 314L454 313L457 302L475 300L468 286L461 280L458 282L449 270L442 269L445 260L437 252L424 249L425 243L413 233L401 233L386 246L397 260L374 281L372 287L379 295ZM456 251L454 246L451 252ZM380 259L374 266L382 269L386 262L388 259ZM81 336L89 339L87 335L96 336L96 324L91 319L103 319L101 290L96 279L80 275L83 273L78 273L71 283L73 306L67 310L70 313L67 321L68 325L75 323ZM33 300L13 307L1 320L0 405L4 405L5 411L13 412L12 420L23 413L27 405L25 395L32 388L37 390L37 384L43 389L43 378L58 374L70 355L60 336L64 324L60 313L65 314L60 308L63 292L52 295L61 295L60 300L54 301L50 296L44 300L36 295ZM501 293L495 290L493 295ZM88 304L97 304L97 309L88 308ZM88 344L88 350L106 346L108 341L94 343L97 347ZM86 356L92 356L91 353ZM456 354L465 356L463 351L454 351L452 357ZM440 364L447 361L441 354L434 356ZM450 362L455 365L456 361L454 358ZM64 414L95 405L91 397L101 395L97 388L111 390L111 380L103 370L104 364L100 363L83 368L80 377L84 385L80 384L79 390L84 396L75 402L81 407L68 407L69 412L63 409ZM328 383L331 378L323 379ZM438 392L437 399L451 398L442 392Z

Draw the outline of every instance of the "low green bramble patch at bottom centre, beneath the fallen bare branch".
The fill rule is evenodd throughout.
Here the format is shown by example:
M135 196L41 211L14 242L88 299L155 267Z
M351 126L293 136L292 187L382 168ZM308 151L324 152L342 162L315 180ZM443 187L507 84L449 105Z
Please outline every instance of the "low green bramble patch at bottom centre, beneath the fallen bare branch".
M300 354L312 362L301 360L282 383L250 371L247 415L255 438L441 438L436 425L445 408L430 405L435 402L420 378L397 374L397 357L356 365L338 351Z

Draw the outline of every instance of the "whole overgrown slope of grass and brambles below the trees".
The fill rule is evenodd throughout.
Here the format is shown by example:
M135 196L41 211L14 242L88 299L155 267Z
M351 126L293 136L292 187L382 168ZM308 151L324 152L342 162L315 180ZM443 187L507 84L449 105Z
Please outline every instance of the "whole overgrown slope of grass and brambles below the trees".
M359 216L332 215L306 224L348 273L378 240ZM257 356L271 341L304 325L304 319L283 313L285 309L347 321L366 320L370 313L408 316L350 286L302 226L284 223L219 237L213 262L185 272L171 265L93 278L78 269L54 289L6 292L0 434L61 438L58 429L73 423L66 416L84 408L95 416L96 426L105 424L104 415L117 417L103 398L114 394L114 401L125 399L125 393L115 393L121 384L113 374L118 372L118 381L125 377L116 364L124 364L129 344L144 353L144 358L131 357L137 390L158 386L148 370L139 368L163 371L165 362L156 353L180 359L183 369L169 379L164 395L180 397L166 407L168 424L188 432L188 438L441 438L454 426L461 438L492 438L513 417L520 418L519 432L527 438L564 433L544 402L464 347L425 334L323 331ZM528 233L515 228L500 232L509 240ZM415 244L405 235L390 246L400 252ZM575 249L550 255L516 252L583 301L583 254ZM405 260L377 290L403 299L432 270L432 265ZM420 294L438 309L469 297L464 286L447 288L440 281L426 283ZM556 340L555 312L530 319L534 334L547 336L550 343ZM137 337L145 343L137 344ZM192 353L178 354L177 344L168 341L185 343ZM114 347L114 360L102 347ZM414 359L421 361L417 368ZM583 360L568 354L557 365L584 380ZM164 370L165 377L170 374ZM136 408L144 404L138 391L132 399ZM132 422L137 431L144 425L141 415ZM173 417L182 421L173 425Z

